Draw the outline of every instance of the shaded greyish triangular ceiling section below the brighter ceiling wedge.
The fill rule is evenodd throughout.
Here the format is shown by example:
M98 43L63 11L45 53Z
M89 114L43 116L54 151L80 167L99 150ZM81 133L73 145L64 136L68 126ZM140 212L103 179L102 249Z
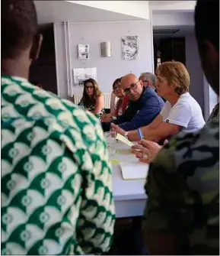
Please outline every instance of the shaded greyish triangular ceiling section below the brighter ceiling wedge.
M91 8L65 1L34 1L39 24L52 22L142 21L130 15Z

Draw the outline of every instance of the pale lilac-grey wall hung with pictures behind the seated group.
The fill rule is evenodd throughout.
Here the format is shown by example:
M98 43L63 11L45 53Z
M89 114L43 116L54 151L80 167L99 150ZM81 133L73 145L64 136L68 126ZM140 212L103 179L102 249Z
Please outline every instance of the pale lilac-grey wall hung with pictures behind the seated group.
M56 66L59 96L67 98L65 40L63 24L55 24ZM122 60L121 37L136 35L139 38L139 59ZM112 57L100 57L100 42L112 43ZM78 60L78 44L90 45L89 60ZM114 79L126 73L153 70L152 34L150 21L125 21L70 24L70 49L73 68L97 67L97 82L103 92L110 92ZM75 94L82 92L75 86Z

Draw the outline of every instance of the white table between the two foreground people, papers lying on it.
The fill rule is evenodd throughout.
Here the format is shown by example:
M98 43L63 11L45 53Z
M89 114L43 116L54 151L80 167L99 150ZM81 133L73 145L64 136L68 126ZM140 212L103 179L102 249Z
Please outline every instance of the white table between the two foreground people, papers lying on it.
M139 162L126 144L117 141L116 150L118 154L110 155L110 159L120 160L120 162ZM116 218L143 215L147 198L144 186L145 179L123 180L120 165L113 164L113 198Z

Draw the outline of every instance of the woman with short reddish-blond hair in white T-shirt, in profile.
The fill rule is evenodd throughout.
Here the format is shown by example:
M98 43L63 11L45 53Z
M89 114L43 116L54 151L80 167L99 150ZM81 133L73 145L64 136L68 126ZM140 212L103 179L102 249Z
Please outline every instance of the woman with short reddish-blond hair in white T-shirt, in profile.
M139 141L144 138L148 141L161 141L171 138L179 131L199 131L205 121L196 99L190 96L190 76L183 63L172 61L164 62L157 70L158 95L167 99L161 113L150 125L135 131L123 131L117 125L113 129L125 135L129 141Z

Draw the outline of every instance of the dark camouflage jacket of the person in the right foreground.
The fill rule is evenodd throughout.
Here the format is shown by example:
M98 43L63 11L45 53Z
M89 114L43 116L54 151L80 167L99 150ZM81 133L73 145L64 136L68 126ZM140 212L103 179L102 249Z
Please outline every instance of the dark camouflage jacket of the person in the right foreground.
M218 122L178 134L148 172L144 234L175 235L177 254L219 254L218 136Z

